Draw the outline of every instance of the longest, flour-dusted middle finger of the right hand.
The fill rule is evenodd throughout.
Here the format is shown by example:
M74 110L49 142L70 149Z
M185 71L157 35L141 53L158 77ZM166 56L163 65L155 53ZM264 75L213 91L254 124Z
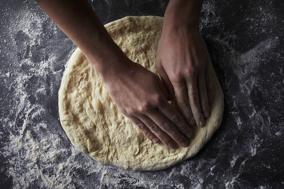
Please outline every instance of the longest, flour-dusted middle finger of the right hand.
M196 125L202 127L204 125L204 118L200 108L198 88L196 78L187 81L187 93L189 98L190 108L196 121Z

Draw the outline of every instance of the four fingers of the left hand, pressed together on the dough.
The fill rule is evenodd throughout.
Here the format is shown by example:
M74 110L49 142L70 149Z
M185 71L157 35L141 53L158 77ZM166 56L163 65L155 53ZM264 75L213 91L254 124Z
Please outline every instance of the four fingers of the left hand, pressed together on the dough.
M127 117L153 143L156 143L158 141L156 139L159 138L169 148L174 146L174 141L186 147L188 145L187 138L190 138L192 134L182 116L173 109L163 96L157 104L143 106L139 111L127 111L133 115L128 114Z

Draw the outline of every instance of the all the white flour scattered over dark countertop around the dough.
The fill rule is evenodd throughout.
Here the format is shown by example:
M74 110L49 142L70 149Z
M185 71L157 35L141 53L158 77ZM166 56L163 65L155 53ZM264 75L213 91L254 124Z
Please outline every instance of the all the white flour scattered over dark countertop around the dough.
M32 2L24 1L24 3L28 5ZM218 15L216 9L218 7L215 7L212 2L204 2L202 14L205 16L201 19L201 30L219 27L222 24L222 19L216 16ZM265 13L264 8L260 11L265 14L261 20L261 24L265 25L273 17ZM3 128L0 139L6 141L1 143L3 147L0 149L0 155L6 159L6 162L5 167L0 170L5 171L9 177L7 179L12 180L12 188L36 186L39 188L182 189L190 186L190 188L201 189L208 184L207 180L215 179L216 175L220 175L218 159L222 158L222 154L208 159L202 152L198 154L198 160L181 162L167 170L134 172L100 165L87 154L78 152L70 144L61 128L57 103L55 103L62 74L68 64L66 61L75 46L69 39L60 36L62 32L45 14L39 13L39 8L36 10L22 8L18 12L7 10L5 14L7 19L6 21L3 19L3 25L1 23L1 27L5 27L7 32L0 34L0 39L3 39L5 43L5 47L0 47L0 56L9 60L7 61L9 67L0 70L0 81L4 91L0 101L5 105L0 111L0 122ZM254 18L248 18L248 20L255 22ZM262 32L263 30L265 31L265 28L261 28ZM228 34L226 37L236 38L234 34ZM221 58L218 60L222 62L220 67L226 76L224 89L227 91L238 89L238 92L232 90L226 94L228 113L233 120L233 127L237 125L239 131L242 131L252 126L244 121L250 119L259 121L262 124L263 133L269 134L271 125L269 114L263 108L256 109L253 102L248 99L248 107L244 110L247 111L248 117L244 119L240 116L242 107L238 98L240 95L251 95L253 88L261 85L261 76L255 76L254 70L257 70L260 63L264 61L261 54L273 48L273 44L280 37L265 39L247 52L236 51L227 39L218 36L214 38L208 36L208 38L220 47L218 53ZM234 68L234 70L226 67ZM228 129L230 124L223 126ZM277 131L275 135L282 136L282 131ZM217 141L219 148L222 149L222 145L226 145L226 142L220 138ZM227 159L227 170L222 173L223 177L221 175L223 180L218 177L223 187L226 189L236 187L240 171L244 170L244 166L249 164L250 159L260 154L261 142L261 137L257 135L246 139L242 153L248 156L240 167L237 167L238 160L243 154L236 154ZM238 172L232 175L229 172L232 169L238 169ZM183 180L184 178L187 180ZM213 188L213 186L209 185L207 188ZM266 186L259 188L266 188Z

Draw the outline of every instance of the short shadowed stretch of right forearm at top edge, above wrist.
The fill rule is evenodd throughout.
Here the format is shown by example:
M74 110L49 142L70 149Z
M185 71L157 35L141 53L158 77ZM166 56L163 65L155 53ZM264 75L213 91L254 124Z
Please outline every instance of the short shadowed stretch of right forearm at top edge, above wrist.
M164 24L173 27L199 28L203 0L170 0Z

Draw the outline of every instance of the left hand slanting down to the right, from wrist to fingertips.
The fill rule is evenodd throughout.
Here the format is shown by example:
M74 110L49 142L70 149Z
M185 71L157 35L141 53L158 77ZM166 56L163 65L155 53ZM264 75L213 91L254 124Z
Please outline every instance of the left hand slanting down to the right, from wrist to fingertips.
M160 139L169 148L174 141L185 147L191 131L168 103L159 76L123 58L100 76L120 111L153 143Z

